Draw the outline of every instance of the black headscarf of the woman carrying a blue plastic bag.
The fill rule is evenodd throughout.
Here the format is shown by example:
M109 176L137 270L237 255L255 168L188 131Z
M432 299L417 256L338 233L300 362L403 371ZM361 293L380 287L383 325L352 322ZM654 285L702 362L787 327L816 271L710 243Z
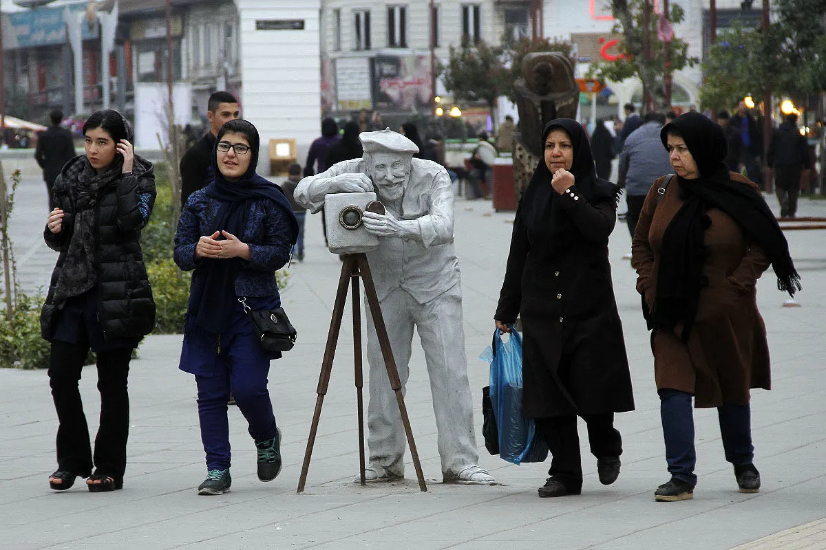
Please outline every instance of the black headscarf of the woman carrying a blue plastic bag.
M576 120L554 119L545 125L542 130L542 143L553 129L563 129L573 144L573 163L571 172L574 176L574 185L577 192L589 203L597 204L605 200L617 200L619 187L610 181L601 180L596 176L594 159L591 157L591 145L585 129ZM562 205L559 204L559 194L551 186L553 175L545 164L544 156L531 176L525 194L522 195L522 219L528 229L532 241L545 242L548 253L558 251L561 247L572 246L576 242L574 235L577 228L571 217Z

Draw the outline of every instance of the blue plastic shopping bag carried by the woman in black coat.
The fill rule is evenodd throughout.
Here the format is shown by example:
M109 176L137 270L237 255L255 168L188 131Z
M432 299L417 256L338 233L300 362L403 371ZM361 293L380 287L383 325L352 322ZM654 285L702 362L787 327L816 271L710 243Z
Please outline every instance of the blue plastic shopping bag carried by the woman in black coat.
M548 446L536 436L536 422L522 414L522 337L510 327L503 339L499 329L493 348L480 357L491 364L491 405L499 430L499 456L510 463L543 462Z

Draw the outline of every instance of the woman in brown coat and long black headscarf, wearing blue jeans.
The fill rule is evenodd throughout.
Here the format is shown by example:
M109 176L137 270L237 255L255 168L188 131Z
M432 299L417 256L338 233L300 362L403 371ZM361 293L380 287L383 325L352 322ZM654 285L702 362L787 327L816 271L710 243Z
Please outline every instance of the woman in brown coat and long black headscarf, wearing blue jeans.
M771 377L755 285L770 264L778 289L789 294L800 289L800 277L757 186L725 167L719 125L689 112L666 125L661 139L676 176L648 192L632 247L672 474L654 498L694 496L691 397L695 407L717 407L739 490L757 492L749 390L770 389Z

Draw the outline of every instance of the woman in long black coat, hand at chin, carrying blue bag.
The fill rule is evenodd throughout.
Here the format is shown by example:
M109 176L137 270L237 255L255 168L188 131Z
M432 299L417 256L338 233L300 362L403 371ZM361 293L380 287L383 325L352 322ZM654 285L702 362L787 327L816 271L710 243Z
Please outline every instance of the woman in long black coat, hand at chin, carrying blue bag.
M549 122L543 143L544 158L516 212L494 318L507 332L522 317L522 410L536 419L553 454L539 496L578 495L577 416L588 425L600 481L610 485L622 454L614 413L634 409L608 262L619 189L596 177L576 120Z

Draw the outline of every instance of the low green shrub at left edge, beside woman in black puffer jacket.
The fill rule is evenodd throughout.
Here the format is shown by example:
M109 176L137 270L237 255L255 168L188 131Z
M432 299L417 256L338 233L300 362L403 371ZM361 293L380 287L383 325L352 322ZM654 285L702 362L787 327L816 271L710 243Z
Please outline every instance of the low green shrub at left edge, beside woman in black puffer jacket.
M40 338L40 306L43 294L17 293L10 319L0 322L0 367L45 369L49 366L49 342Z

